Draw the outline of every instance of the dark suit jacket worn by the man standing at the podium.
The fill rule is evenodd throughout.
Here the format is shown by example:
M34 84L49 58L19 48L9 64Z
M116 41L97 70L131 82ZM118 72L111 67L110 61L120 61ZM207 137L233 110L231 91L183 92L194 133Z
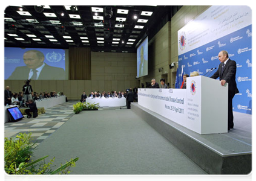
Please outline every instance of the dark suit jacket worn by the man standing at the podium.
M226 62L226 65L222 72L222 65L223 63L220 63L218 65L218 70L212 75L211 78L218 78L220 77L220 80L226 80L228 83L228 91L229 93L232 92L232 94L237 94L239 90L237 89L237 83L235 81L235 74L237 72L237 63L234 60L228 60Z

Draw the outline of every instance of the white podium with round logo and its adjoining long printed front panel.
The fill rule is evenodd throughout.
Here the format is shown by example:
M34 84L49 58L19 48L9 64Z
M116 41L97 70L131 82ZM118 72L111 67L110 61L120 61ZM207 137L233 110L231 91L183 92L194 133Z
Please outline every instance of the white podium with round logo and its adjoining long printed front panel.
M228 132L228 84L188 77L186 89L139 89L140 106L203 134Z

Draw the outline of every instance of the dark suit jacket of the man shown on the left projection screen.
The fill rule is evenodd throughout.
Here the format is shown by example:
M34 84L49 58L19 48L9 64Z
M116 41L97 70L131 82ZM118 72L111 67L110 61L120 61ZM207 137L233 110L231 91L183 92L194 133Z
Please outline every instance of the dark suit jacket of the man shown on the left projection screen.
M8 80L27 80L30 69L27 66L19 66L13 71ZM45 63L39 74L38 80L64 80L65 71L62 68L49 66Z

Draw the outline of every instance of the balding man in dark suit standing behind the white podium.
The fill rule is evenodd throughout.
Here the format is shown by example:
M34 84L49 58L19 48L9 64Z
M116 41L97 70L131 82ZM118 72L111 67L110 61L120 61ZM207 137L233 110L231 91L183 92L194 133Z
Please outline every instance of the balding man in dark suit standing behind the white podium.
M237 63L229 59L228 52L225 50L218 53L218 60L220 60L220 65L218 65L218 70L211 78L216 79L220 77L220 84L222 86L228 83L228 130L230 130L234 127L232 99L239 92L235 82Z

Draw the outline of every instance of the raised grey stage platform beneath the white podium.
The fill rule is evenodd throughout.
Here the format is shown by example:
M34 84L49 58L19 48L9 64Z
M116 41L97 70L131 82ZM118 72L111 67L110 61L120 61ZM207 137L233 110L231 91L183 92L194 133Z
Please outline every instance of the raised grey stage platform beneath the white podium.
M137 103L131 110L215 180L254 180L254 115L234 112L228 133L199 135Z

